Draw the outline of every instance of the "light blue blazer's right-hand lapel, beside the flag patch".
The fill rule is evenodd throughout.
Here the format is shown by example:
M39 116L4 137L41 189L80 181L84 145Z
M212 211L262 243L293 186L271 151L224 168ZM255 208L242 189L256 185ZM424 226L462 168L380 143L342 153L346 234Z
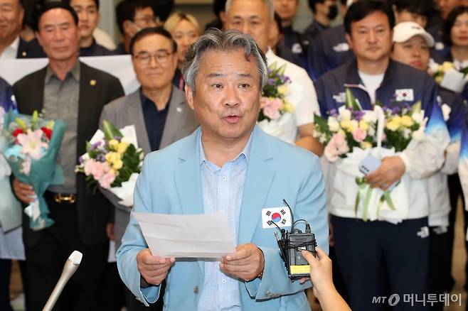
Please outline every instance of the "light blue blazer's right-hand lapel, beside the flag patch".
M272 138L267 136L258 126L255 126L252 135L243 200L240 207L239 244L252 241L257 224L262 218L262 208L275 176L272 147L268 143L268 140Z

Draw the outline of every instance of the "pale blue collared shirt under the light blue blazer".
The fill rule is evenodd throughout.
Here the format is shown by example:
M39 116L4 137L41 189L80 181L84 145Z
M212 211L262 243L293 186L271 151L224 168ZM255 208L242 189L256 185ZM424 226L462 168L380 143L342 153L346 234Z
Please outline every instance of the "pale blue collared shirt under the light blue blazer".
M228 215L229 229L238 244L240 205L247 172L250 140L243 151L222 168L206 159L200 138L201 190L203 193L203 212L223 211ZM205 262L205 279L198 302L198 311L241 310L240 285L243 281L231 278L220 271L219 261Z

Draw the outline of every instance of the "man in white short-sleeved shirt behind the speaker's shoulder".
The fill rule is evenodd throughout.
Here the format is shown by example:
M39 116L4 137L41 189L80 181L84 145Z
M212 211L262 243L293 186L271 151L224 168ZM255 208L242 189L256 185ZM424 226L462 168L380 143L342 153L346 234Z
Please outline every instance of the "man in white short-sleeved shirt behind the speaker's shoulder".
M282 129L277 131L275 136L321 155L323 146L312 136L314 113L319 114L314 84L303 68L277 57L268 46L270 28L273 26L275 14L272 0L228 0L225 12L225 28L250 34L255 38L260 49L265 52L268 65L274 62L277 66L287 64L284 75L291 79L292 84L297 84L298 90L294 96L298 98L292 118L282 124Z

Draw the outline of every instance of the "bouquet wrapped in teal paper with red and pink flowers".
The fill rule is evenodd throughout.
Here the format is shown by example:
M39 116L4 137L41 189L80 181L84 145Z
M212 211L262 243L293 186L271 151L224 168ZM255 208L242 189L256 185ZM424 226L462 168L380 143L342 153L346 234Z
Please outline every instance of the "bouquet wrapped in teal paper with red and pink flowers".
M65 128L63 121L47 121L37 111L26 116L10 110L4 116L6 148L3 153L15 177L36 192L36 200L25 209L29 227L36 231L53 224L43 194L49 185L63 184L62 168L55 158Z

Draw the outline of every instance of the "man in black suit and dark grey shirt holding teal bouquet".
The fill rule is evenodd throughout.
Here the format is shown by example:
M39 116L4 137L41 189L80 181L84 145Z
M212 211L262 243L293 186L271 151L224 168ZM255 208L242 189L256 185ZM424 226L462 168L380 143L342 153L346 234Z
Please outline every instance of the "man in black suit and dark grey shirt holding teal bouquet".
M63 119L67 130L58 152L64 184L50 186L45 198L55 223L41 231L23 219L23 241L28 265L31 309L41 310L60 277L66 258L74 250L83 253L80 268L57 302L57 310L97 310L100 278L107 263L105 231L110 203L93 194L84 175L74 168L85 153L85 141L97 130L107 102L124 92L116 77L79 62L78 16L67 4L51 2L38 13L36 36L48 55L47 67L14 84L18 111L42 111L46 119ZM31 202L30 185L14 179L21 202ZM55 310L55 309L54 309Z

